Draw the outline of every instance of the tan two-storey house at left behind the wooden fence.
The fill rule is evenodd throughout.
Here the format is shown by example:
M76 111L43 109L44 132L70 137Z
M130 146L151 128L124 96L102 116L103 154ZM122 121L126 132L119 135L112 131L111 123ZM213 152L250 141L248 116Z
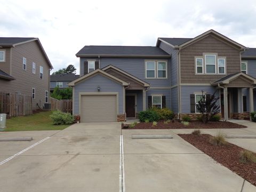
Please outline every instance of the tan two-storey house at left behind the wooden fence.
M52 68L38 38L0 37L0 91L31 95L33 110L43 108Z

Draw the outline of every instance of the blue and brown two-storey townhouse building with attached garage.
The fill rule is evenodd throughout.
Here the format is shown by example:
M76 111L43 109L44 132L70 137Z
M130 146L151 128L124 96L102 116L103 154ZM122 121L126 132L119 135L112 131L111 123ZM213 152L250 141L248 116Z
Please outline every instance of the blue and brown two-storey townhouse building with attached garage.
M255 49L214 30L156 46L84 46L76 56L81 77L68 85L81 122L125 121L152 106L196 118L202 91L220 97L224 119L256 110Z

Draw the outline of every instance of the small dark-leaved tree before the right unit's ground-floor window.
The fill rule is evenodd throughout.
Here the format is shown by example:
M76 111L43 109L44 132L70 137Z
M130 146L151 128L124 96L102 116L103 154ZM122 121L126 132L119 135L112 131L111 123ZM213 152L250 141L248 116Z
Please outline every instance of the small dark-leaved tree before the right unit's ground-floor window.
M220 105L217 105L219 97L215 97L216 91L211 94L204 94L202 91L202 97L196 105L197 110L202 114L202 121L208 123L213 115L216 115L220 112Z

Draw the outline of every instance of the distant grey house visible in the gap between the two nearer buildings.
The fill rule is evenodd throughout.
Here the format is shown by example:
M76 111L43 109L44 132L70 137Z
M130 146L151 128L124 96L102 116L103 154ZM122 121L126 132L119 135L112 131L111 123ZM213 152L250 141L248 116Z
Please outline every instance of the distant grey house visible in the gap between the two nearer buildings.
M50 91L53 92L55 87L64 89L68 87L68 83L77 79L79 75L76 74L55 74L50 77Z

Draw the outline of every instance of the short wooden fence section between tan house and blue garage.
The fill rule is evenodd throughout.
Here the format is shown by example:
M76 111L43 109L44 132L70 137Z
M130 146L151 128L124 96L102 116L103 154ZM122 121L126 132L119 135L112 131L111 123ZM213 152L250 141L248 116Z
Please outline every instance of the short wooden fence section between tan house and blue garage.
M60 110L65 113L72 114L72 99L55 99L50 97L51 110Z

